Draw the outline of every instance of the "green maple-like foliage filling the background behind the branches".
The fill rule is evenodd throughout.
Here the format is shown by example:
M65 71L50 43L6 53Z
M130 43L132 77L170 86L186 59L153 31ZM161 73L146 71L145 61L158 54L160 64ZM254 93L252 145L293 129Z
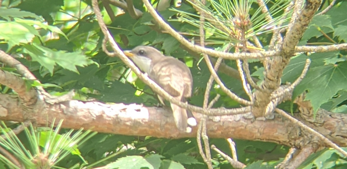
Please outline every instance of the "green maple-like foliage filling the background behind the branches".
M153 1L156 3L156 1ZM274 1L268 1L271 4ZM283 0L284 2L288 2ZM329 1L324 1L325 8ZM114 39L122 49L132 49L137 45L151 45L166 55L185 61L190 66L195 92L190 103L202 105L203 92L210 76L206 65L182 50L177 40L168 34L158 32L151 22L152 17L141 0L134 0L142 17L133 19L127 12L112 8L117 14L111 21L103 10L104 21ZM102 7L102 5L100 5ZM252 11L258 6L251 6ZM347 1L339 0L327 14L315 16L301 39L300 45L338 44L347 41ZM194 14L189 3L182 3L176 10L160 12L164 19L178 32L185 32L187 39L196 38L198 28L177 20L179 11ZM280 13L278 15L281 15ZM193 19L197 19L194 18ZM77 92L74 99L96 98L101 102L143 103L154 105L158 101L148 86L136 78L117 57L108 57L101 49L103 35L100 32L90 0L4 0L0 8L0 49L15 56L41 82L28 80L28 85L43 86L52 95L62 95L71 89ZM228 39L213 36L206 38L209 48L221 50ZM217 36L217 35L216 35ZM331 37L330 39L327 36ZM265 46L269 44L271 32L264 32L259 39ZM217 43L218 42L218 43ZM332 112L347 112L347 57L346 51L299 54L293 57L282 77L282 83L293 82L304 67L306 58L312 60L305 79L294 91L296 97L308 91L306 99L312 102L314 110L323 108ZM235 68L235 62L225 60ZM2 65L2 70L16 71ZM263 67L259 61L251 63L251 73L262 79ZM241 83L234 78L219 73L222 81L235 93L245 96ZM12 91L1 86L2 93ZM238 107L237 102L228 98L217 87L211 95L221 94L215 107ZM290 111L290 103L280 105ZM64 131L62 131L64 133ZM20 134L25 141L26 136ZM236 140L237 155L247 168L271 168L281 161L288 147L259 141ZM229 154L229 147L223 139L211 139L219 149ZM108 168L138 169L158 168L207 168L197 150L195 138L170 140L153 137L137 137L111 134L97 134L78 146L81 155L70 154L56 166L81 168L82 166L103 166ZM231 168L220 155L213 154L215 168ZM111 156L113 154L113 156ZM81 159L82 157L82 159ZM106 157L111 157L107 158ZM101 160L101 161L100 161ZM7 168L5 163L0 168ZM318 152L303 164L302 168L342 169L347 168L346 158L331 150Z

